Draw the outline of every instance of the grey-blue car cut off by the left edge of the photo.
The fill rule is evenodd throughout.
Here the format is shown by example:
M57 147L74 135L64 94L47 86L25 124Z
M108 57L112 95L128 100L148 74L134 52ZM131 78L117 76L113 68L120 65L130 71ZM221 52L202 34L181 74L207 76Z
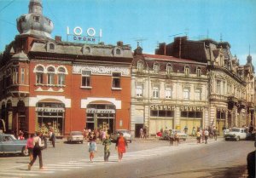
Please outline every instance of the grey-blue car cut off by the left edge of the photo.
M20 153L23 156L28 156L26 140L17 140L14 135L0 134L0 152Z

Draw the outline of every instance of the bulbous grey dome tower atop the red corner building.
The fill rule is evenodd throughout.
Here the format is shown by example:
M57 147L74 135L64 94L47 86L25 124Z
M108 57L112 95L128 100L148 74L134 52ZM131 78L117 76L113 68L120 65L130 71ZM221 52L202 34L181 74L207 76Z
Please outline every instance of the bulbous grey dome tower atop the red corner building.
M30 0L28 13L17 19L17 29L20 35L50 37L54 25L43 15L42 0Z

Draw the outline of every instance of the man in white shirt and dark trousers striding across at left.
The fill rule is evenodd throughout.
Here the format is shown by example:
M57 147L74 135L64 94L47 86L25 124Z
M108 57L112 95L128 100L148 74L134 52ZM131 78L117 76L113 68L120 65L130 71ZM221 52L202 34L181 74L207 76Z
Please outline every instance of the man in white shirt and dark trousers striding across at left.
M41 132L37 132L37 136L34 136L33 138L33 159L28 164L28 170L31 170L32 165L35 163L37 157L39 158L39 169L43 169L43 157L42 157L42 151L41 148L44 147L44 144L42 144L40 136L42 135Z

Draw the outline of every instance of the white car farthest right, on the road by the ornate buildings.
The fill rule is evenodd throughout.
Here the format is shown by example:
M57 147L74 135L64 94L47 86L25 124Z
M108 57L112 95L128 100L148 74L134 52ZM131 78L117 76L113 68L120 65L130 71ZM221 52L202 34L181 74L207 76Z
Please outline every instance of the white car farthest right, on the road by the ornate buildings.
M244 128L232 128L230 132L227 132L224 135L225 141L229 141L229 140L240 141L240 140L246 140L246 138L247 138L247 129L244 129Z

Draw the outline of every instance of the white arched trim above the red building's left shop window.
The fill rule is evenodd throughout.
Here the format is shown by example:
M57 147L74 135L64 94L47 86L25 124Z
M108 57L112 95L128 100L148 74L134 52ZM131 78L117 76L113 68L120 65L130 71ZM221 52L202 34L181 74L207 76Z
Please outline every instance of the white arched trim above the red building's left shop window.
M45 99L53 99L53 100L61 100L65 104L66 108L71 107L71 99L65 98L65 96L56 96L56 95L37 95L36 97L29 97L28 98L28 106L36 106L36 104L40 100Z

